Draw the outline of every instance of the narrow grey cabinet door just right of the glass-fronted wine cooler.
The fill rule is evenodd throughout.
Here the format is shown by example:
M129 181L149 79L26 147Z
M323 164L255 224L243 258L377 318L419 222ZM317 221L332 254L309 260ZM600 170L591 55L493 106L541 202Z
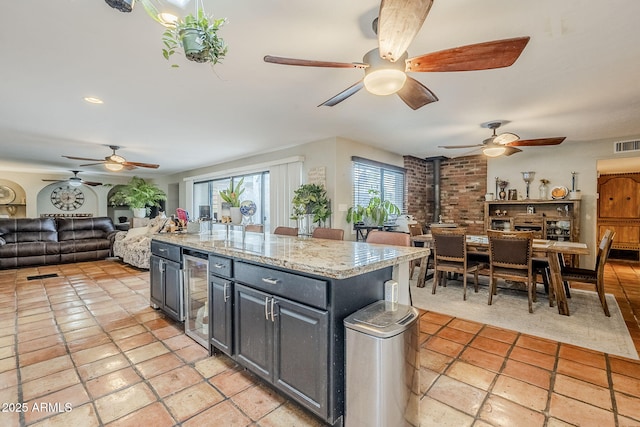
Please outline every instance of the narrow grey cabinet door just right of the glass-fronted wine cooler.
M211 344L231 355L233 282L220 277L211 277Z

